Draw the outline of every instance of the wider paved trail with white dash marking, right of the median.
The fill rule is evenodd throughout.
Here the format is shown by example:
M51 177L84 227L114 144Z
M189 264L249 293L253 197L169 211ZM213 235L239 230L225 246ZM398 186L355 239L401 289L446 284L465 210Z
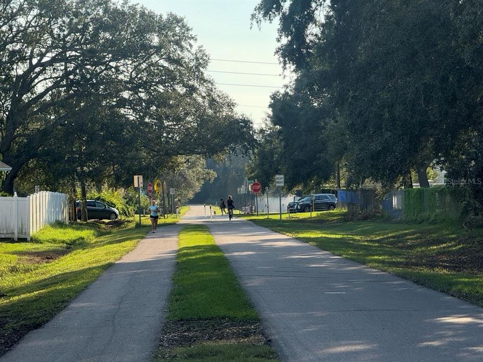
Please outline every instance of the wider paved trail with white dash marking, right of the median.
M196 217L195 215L200 215ZM483 360L483 309L251 222L193 207L285 362Z

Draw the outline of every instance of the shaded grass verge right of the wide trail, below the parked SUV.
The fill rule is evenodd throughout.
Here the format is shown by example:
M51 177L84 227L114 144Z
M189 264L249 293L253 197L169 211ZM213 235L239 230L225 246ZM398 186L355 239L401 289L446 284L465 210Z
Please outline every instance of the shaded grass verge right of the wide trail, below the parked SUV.
M258 225L483 306L483 231L452 224L345 221L341 211L252 216Z

